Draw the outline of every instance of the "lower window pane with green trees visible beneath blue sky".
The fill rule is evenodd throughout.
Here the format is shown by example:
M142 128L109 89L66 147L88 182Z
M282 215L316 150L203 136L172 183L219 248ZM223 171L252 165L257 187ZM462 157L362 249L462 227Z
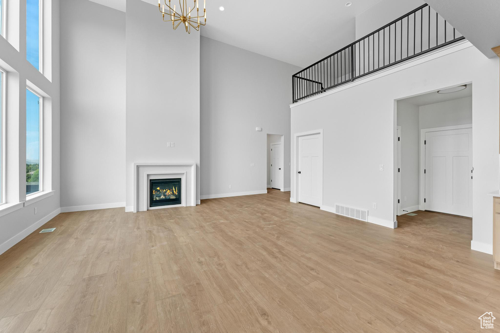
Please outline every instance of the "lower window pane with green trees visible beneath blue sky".
M26 195L42 190L41 97L26 89Z

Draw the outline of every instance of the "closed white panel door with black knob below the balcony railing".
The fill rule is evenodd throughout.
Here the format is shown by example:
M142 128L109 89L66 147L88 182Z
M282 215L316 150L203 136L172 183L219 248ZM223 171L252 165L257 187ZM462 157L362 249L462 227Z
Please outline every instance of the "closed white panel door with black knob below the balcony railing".
M321 150L319 134L298 138L298 202L321 205Z

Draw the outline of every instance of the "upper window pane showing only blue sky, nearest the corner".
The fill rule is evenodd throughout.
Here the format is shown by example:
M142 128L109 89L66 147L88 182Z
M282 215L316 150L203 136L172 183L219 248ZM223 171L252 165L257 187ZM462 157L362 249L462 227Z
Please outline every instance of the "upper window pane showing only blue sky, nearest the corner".
M26 0L26 59L40 71L41 1Z

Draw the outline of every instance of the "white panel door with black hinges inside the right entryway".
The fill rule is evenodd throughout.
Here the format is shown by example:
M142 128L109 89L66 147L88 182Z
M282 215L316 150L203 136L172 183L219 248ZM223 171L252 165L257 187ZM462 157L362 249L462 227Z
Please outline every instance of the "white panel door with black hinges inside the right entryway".
M472 129L425 134L425 209L472 217Z

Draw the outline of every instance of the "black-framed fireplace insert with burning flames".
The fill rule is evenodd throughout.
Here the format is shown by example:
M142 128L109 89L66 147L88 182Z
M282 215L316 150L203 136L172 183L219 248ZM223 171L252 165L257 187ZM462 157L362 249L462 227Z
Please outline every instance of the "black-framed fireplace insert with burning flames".
M149 207L180 205L180 180L149 179Z

